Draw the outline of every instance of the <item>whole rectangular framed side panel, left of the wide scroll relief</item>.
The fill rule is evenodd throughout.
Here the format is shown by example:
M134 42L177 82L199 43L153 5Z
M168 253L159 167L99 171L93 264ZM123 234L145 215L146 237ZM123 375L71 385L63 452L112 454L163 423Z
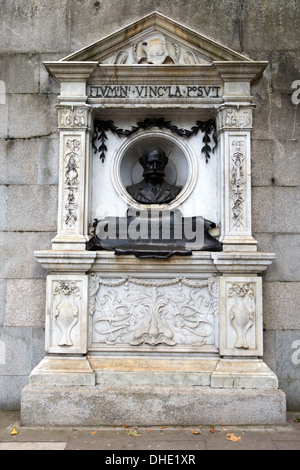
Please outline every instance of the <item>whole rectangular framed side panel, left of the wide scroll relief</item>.
M46 351L87 351L87 276L47 277Z

